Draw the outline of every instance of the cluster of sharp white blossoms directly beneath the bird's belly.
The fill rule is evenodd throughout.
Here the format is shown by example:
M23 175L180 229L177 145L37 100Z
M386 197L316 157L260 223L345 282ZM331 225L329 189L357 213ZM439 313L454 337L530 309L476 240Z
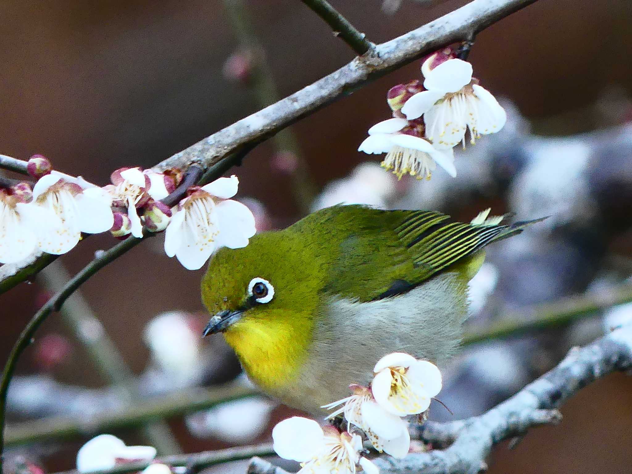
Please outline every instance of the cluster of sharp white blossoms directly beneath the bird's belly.
M307 418L283 420L272 431L274 450L285 459L302 463L302 474L355 473L356 465L377 472L377 466L359 456L363 433L380 453L403 458L410 449L408 423L404 417L428 410L430 399L441 390L441 372L431 362L405 353L382 357L374 367L369 387L352 384L353 394L327 404L328 419L344 415L346 431L325 427Z

